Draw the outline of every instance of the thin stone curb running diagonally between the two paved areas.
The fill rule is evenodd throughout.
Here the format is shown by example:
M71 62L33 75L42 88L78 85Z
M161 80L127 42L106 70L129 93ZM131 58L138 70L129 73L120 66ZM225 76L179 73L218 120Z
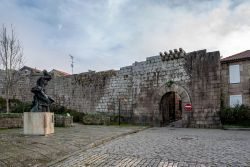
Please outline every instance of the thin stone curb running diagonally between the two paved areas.
M77 151L75 151L75 152L73 152L73 153L71 153L71 154L65 155L64 157L61 157L61 158L59 158L59 159L57 159L57 160L54 160L54 161L52 161L52 162L47 163L45 166L46 166L46 167L49 167L49 166L51 166L51 165L57 164L57 163L59 163L59 162L65 160L65 159L67 159L67 158L69 158L69 157L71 157L71 156L74 156L74 155L76 155L76 154L78 154L78 153L80 153L80 152L87 151L87 150L89 150L89 149L95 148L95 147L97 147L97 146L100 146L100 145L102 145L102 144L105 144L105 143L107 143L107 142L109 142L109 141L111 141L111 140L117 139L117 138L119 138L119 137L124 137L124 136L127 136L127 135L131 135L131 134L134 134L134 133L138 133L138 132L141 132L141 131L146 130L146 129L149 129L149 128L151 128L151 127L144 127L144 128L141 128L141 129L132 130L132 131L130 131L130 132L125 132L125 133L122 133L122 134L119 134L119 135L115 135L115 136L111 136L111 137L107 137L107 138L104 138L104 139L97 140L97 141L95 141L95 142L93 142L93 143L90 143L90 144L84 146L84 147L81 148L80 150L77 150Z

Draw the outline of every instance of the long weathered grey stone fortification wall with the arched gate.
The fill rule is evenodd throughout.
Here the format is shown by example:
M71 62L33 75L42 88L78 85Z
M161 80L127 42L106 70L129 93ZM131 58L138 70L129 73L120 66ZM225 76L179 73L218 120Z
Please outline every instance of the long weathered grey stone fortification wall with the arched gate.
M22 75L15 98L32 101L30 89L38 77ZM46 91L56 103L84 113L118 113L120 100L121 114L128 121L156 126L162 121L161 97L168 91L175 91L182 97L183 107L186 103L193 104L192 111L186 112L183 108L184 126L218 127L219 84L219 52L203 50L186 54L180 49L117 71L54 77Z

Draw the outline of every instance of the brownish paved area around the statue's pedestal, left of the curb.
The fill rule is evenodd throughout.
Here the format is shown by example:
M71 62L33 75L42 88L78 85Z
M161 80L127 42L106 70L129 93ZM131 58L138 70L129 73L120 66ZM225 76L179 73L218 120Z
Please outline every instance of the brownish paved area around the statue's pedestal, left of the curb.
M93 142L141 128L75 124L71 128L55 128L55 134L49 136L25 136L23 129L0 129L0 167L44 166Z

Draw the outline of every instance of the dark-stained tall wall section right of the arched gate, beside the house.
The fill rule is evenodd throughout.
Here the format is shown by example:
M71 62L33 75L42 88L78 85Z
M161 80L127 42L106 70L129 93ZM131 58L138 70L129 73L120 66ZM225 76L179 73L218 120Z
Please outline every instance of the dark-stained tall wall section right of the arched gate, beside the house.
M220 127L220 53L195 51L186 55L185 61L185 69L191 78L189 91L193 105L187 126Z

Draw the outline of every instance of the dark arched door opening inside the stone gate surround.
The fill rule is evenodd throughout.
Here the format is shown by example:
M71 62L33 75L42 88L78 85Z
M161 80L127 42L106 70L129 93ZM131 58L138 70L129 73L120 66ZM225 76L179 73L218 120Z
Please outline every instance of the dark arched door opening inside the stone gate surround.
M175 92L166 93L162 96L160 111L162 114L162 126L180 120L182 115L182 103L180 96Z

